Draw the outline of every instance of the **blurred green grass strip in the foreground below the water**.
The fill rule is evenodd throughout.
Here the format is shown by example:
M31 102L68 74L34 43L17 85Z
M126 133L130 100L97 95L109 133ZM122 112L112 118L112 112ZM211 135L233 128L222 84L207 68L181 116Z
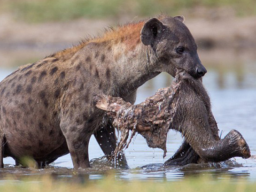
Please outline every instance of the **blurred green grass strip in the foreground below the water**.
M5 182L1 192L254 192L256 183L212 180L209 177L188 178L182 181L120 181L110 176L84 184L52 180Z

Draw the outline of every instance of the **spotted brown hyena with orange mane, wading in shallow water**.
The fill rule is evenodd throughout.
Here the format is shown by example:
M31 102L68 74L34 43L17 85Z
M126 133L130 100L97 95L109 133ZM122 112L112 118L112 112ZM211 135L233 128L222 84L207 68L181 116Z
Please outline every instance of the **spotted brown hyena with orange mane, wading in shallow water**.
M129 23L20 67L0 83L0 164L30 156L39 166L70 153L75 169L89 167L94 133L105 154L115 145L113 127L93 93L134 103L137 88L166 71L185 69L200 78L206 69L183 17L166 15Z

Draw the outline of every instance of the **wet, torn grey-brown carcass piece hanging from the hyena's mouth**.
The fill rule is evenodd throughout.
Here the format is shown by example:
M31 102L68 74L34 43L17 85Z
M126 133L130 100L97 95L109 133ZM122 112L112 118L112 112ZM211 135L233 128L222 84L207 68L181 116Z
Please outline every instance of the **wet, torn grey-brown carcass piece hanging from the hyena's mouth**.
M146 138L148 146L163 149L165 155L169 129L181 132L185 142L164 165L250 157L249 147L238 131L232 130L225 138L219 138L202 81L185 71L178 71L171 87L159 89L138 105L132 106L121 98L106 95L96 95L95 101L98 108L110 111L113 124L122 131L121 147L123 143L129 145L127 131L132 130Z

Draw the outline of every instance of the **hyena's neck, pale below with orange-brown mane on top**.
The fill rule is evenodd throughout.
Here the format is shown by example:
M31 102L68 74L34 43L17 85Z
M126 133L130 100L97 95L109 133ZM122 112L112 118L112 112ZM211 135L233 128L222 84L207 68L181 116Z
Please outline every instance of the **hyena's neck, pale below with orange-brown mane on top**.
M96 67L108 87L105 93L125 97L159 74L153 70L155 54L140 40L143 25L140 22L119 27L86 45L93 49Z

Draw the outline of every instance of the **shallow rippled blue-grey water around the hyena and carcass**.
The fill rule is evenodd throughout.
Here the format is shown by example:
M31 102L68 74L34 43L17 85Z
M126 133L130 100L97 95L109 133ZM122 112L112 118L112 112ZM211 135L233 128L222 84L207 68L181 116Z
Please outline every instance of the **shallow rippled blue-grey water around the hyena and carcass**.
M14 166L11 158L5 158L5 168L0 169L0 184L12 179L20 182L22 178L38 178L50 175L59 179L70 179L78 182L104 178L106 173L114 172L117 179L124 180L181 180L190 176L207 175L223 180L227 177L234 181L256 181L256 62L244 62L240 68L233 70L234 65L210 65L203 82L212 101L212 111L218 123L222 138L232 129L240 131L246 139L252 157L248 160L233 158L225 163L207 163L182 167L161 167L171 157L182 142L179 133L170 131L167 140L167 156L163 159L163 151L151 149L144 138L137 135L125 155L130 169L113 169L103 166L104 160L100 146L92 137L89 144L89 157L93 160L93 168L74 170L70 155L57 159L47 169L22 169ZM227 70L228 69L228 70ZM0 69L0 80L14 69ZM171 77L165 73L150 80L140 87L136 103L140 103L155 93L158 88L171 84ZM101 168L101 169L100 169ZM99 170L100 169L100 170Z

